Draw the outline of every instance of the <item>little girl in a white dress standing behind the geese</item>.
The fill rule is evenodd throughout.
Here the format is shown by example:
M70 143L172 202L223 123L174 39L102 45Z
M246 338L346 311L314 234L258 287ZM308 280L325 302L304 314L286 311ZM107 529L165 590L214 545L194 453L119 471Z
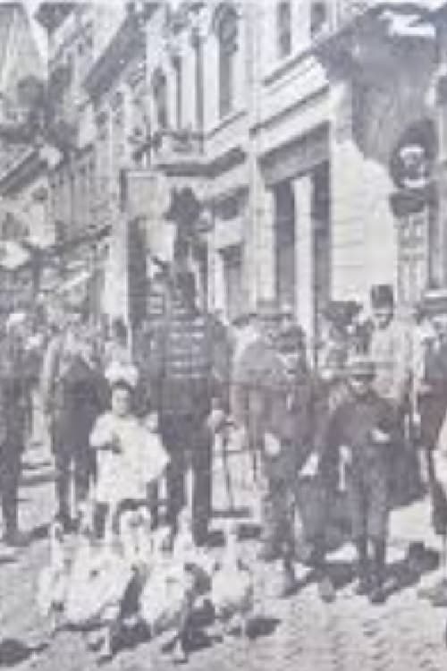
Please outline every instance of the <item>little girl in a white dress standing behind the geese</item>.
M90 446L97 452L95 500L106 530L116 531L124 510L147 505L148 483L163 475L169 460L155 431L132 412L129 379L123 373L111 386L111 410L98 417Z

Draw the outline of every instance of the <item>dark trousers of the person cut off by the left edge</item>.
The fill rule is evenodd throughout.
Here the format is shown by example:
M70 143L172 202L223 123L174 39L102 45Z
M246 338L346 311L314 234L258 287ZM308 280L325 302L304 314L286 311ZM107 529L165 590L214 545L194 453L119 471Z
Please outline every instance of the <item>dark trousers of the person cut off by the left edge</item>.
M21 475L21 446L7 443L0 447L0 496L6 533L17 530L18 491Z

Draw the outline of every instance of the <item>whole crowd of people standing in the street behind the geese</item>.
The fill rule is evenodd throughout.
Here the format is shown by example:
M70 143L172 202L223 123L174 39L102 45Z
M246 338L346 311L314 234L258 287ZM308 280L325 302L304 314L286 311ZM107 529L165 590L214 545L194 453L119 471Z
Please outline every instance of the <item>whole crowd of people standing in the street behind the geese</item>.
M194 544L206 548L213 444L223 434L250 456L261 509L258 558L280 562L282 594L296 588L294 517L300 483L310 478L317 496L308 561L322 599L335 597L326 536L342 489L356 590L383 603L392 498L421 487L421 456L428 484L436 480L434 451L443 451L439 438L447 433L442 317L421 309L411 324L397 319L392 287L374 286L368 318L351 302L328 306L311 366L306 334L287 305L259 302L228 325L198 309L194 276L184 271L168 298L164 318L156 327L143 323L133 338L121 319L110 330L92 327L79 304L53 319L8 320L0 385L4 540L21 543L21 454L38 395L63 531L79 531L91 505L95 536L110 538L123 512L145 508L152 527L166 525L175 538L189 506Z

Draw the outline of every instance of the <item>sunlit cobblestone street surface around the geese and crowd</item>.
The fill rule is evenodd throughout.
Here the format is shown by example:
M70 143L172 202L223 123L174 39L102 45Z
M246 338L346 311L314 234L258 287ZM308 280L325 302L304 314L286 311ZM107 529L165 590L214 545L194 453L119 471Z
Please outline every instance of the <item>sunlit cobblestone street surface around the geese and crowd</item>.
M38 648L46 641L46 624L39 619L33 597L38 570L47 556L42 525L49 520L52 508L51 461L39 449L32 450L27 454L21 488L21 526L32 531L33 540L29 548L15 557L0 548L2 639L20 641L29 648ZM390 565L399 565L410 539L424 539L426 547L439 547L439 541L426 531L428 519L426 502L394 514ZM215 526L218 527L218 520ZM244 556L252 555L256 542L241 542L246 544ZM255 640L229 637L194 650L188 667L191 671L210 667L215 671L234 668L443 671L447 665L443 644L446 611L417 599L417 589L434 582L439 577L437 573L427 573L417 584L396 590L384 606L372 607L365 599L353 596L350 580L343 581L344 569L352 558L349 546L331 556L334 569L344 582L332 605L320 602L309 570L299 565L297 574L302 586L297 594L290 599L274 599L267 589L274 582L272 573L263 574L266 569L259 567L257 573L264 578L265 588L259 607L266 621L266 632ZM45 650L29 655L24 651L23 657L22 661L14 661L14 667L42 671L97 667L93 653L79 633L59 633ZM4 662L0 659L0 667ZM120 651L107 666L143 671L168 669L173 663L162 654L159 644L152 642Z

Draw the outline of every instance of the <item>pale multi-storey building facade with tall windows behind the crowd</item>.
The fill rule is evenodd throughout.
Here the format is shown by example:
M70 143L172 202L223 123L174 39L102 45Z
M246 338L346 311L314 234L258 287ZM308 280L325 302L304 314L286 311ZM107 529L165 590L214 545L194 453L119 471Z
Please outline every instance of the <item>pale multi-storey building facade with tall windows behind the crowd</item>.
M391 283L411 310L442 291L438 4L41 4L73 133L46 217L66 266L89 259L97 310L150 312L174 194L194 213L200 300L228 319L277 298L312 344L330 299Z

